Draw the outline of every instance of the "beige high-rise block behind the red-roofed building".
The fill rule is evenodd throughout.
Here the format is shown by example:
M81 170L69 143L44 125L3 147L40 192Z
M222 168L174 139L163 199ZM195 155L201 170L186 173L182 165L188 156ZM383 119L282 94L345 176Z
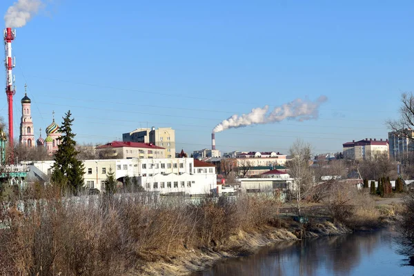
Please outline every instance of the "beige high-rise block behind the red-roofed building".
M175 130L172 128L137 128L122 135L122 141L152 143L166 149L166 157L175 158Z

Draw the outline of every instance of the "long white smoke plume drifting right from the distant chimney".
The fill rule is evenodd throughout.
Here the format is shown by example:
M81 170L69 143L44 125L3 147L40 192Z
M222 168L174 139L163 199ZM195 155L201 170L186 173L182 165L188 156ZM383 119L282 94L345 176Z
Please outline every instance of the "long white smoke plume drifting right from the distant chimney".
M253 108L252 112L248 114L241 116L235 114L225 119L213 128L213 133L221 132L228 128L242 128L254 124L275 123L283 121L284 119L293 119L296 121L317 119L319 115L318 108L327 99L326 96L320 96L316 101L295 99L290 101L290 103L275 107L270 113L268 113L268 106L264 106L264 108Z

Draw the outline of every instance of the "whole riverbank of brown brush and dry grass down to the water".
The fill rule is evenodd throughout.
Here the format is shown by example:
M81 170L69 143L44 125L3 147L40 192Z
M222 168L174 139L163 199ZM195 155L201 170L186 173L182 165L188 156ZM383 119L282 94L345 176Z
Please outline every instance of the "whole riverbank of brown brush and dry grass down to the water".
M284 204L265 195L207 197L197 204L152 202L139 193L27 200L24 213L0 208L7 224L0 233L0 274L186 275L277 242L371 229L394 210L378 208L363 194L353 205L332 202L303 208L300 224L293 214L279 215Z

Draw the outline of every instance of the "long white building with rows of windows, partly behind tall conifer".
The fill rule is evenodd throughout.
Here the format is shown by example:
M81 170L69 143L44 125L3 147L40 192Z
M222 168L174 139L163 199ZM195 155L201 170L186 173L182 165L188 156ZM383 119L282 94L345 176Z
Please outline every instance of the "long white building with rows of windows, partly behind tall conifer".
M34 161L33 166L50 175L53 163ZM137 177L145 190L160 194L205 195L217 191L215 166L193 158L99 159L85 160L83 164L87 188L104 190L111 168L120 184L124 177Z

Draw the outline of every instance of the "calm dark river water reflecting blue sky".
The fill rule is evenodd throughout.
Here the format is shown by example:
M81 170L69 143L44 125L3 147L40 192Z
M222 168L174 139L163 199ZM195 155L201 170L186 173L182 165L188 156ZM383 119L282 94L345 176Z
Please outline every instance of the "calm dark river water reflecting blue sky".
M282 242L259 253L228 259L195 276L218 275L413 275L406 257L396 252L390 230Z

